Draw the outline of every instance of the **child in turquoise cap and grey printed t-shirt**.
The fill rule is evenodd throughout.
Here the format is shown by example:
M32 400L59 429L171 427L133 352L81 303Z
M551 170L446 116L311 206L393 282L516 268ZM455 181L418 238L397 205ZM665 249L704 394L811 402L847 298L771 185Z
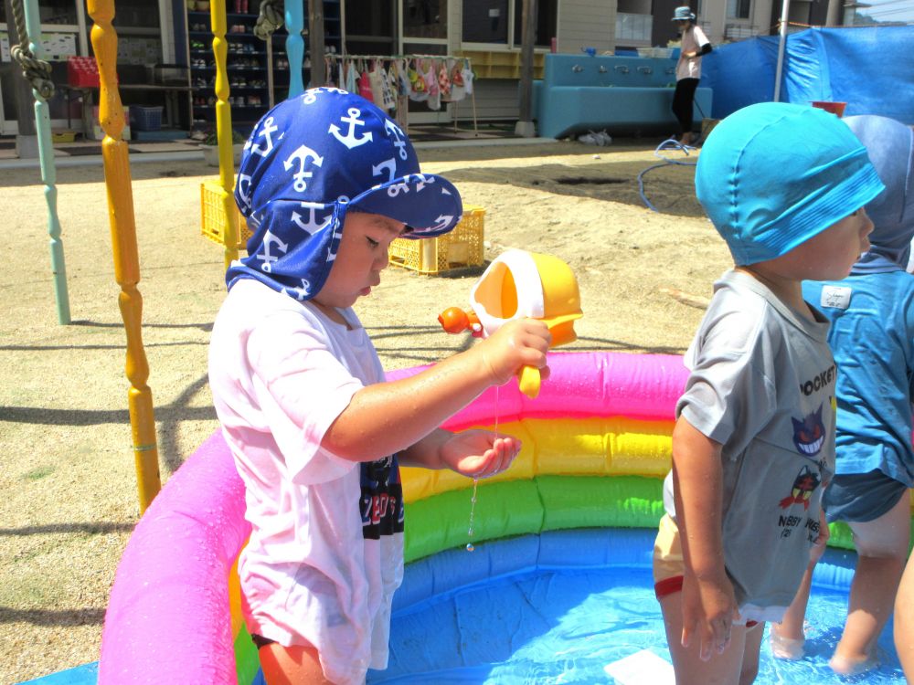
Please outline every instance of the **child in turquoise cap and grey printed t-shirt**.
M828 323L802 279L843 278L868 247L882 190L832 114L761 103L708 136L696 194L735 268L685 354L654 581L676 682L749 683L824 534L834 469Z

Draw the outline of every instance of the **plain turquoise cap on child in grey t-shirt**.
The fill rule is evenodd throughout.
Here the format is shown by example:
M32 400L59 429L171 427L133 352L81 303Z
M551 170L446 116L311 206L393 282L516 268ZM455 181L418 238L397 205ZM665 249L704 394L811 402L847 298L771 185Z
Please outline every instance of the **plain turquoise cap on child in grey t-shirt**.
M784 102L749 105L718 123L695 187L737 266L781 257L884 188L844 121Z

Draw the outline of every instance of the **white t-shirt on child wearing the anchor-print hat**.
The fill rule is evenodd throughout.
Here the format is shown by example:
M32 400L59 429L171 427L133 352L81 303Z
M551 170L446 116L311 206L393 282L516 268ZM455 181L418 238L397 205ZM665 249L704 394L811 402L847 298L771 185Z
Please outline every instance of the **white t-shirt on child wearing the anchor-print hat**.
M356 391L384 378L355 312L343 313L351 330L240 280L213 327L209 383L253 526L239 558L249 630L311 643L329 680L358 683L387 667L403 503L396 459L359 465L321 447Z

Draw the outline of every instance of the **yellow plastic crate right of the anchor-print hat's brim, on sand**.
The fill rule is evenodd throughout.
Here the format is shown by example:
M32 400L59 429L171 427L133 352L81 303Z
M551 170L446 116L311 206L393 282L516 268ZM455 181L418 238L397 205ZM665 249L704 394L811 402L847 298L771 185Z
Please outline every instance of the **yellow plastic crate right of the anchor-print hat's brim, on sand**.
M464 206L463 218L443 236L410 240L399 237L390 244L390 263L424 274L479 267L484 263L483 207Z

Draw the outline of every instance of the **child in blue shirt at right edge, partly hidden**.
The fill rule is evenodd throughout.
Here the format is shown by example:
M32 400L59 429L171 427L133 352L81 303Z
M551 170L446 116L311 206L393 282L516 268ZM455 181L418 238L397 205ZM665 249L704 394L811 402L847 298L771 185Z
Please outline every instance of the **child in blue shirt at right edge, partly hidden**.
M852 675L877 665L877 639L908 558L914 278L905 266L914 237L914 133L886 117L844 121L886 190L866 205L870 249L850 276L803 283L803 296L831 321L828 342L840 372L837 466L823 505L829 522L850 525L858 554L844 634L830 661L835 672ZM806 585L781 626L771 627L775 656L802 656Z

